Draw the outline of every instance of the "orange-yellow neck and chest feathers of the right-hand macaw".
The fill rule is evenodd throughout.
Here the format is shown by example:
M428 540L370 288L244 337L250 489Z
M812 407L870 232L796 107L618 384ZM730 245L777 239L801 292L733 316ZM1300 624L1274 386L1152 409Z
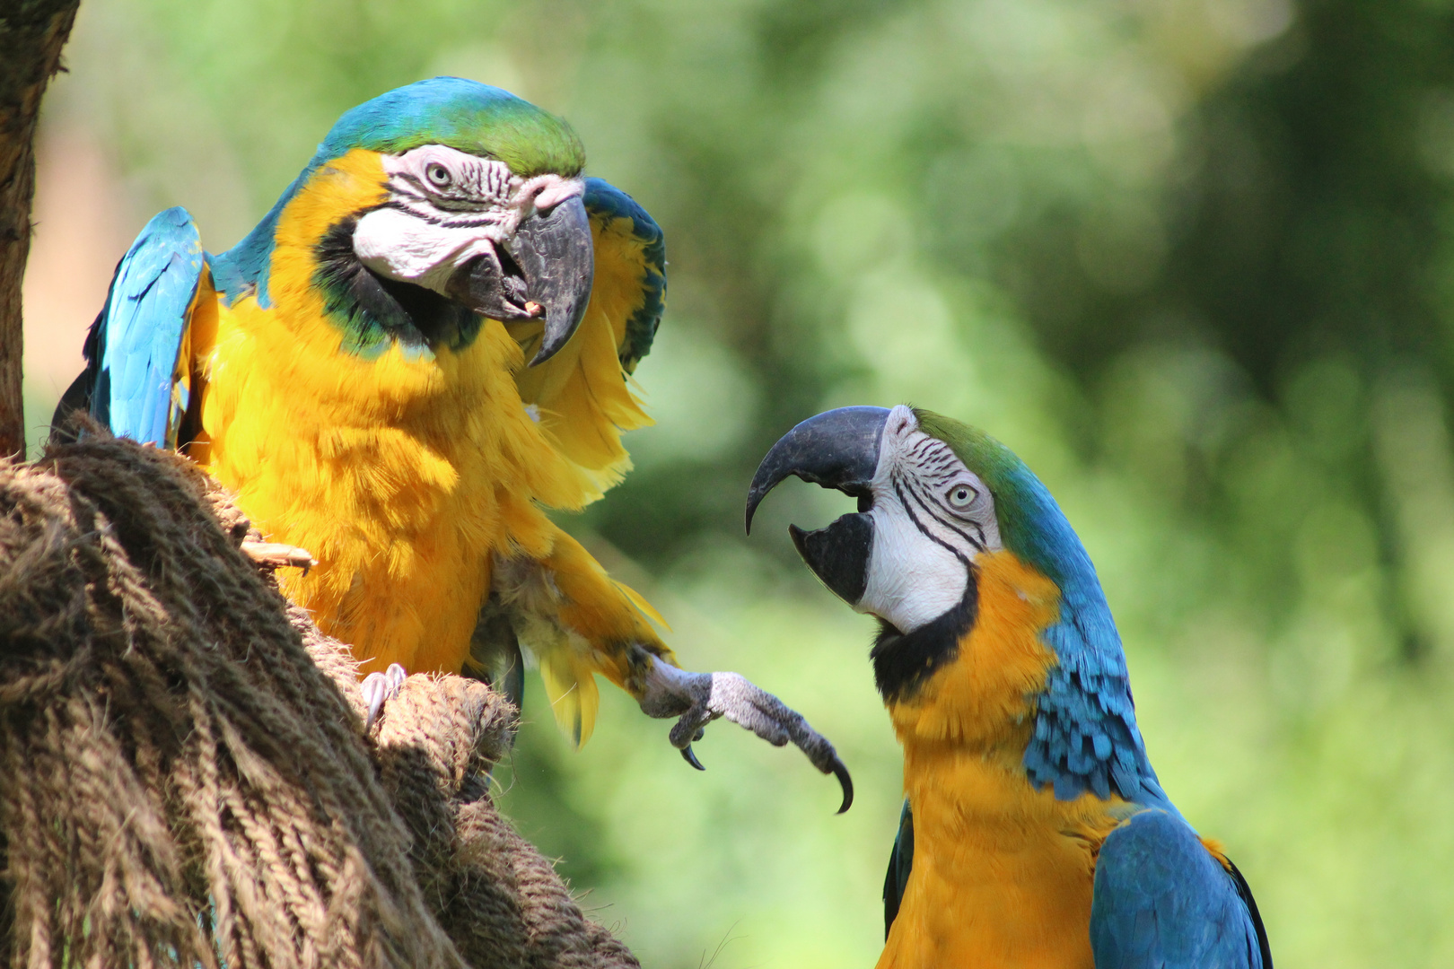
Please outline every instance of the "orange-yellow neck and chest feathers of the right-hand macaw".
M1092 969L1095 857L1125 805L1056 800L1027 779L1059 591L1011 552L977 565L977 617L958 654L890 705L915 848L878 966Z

